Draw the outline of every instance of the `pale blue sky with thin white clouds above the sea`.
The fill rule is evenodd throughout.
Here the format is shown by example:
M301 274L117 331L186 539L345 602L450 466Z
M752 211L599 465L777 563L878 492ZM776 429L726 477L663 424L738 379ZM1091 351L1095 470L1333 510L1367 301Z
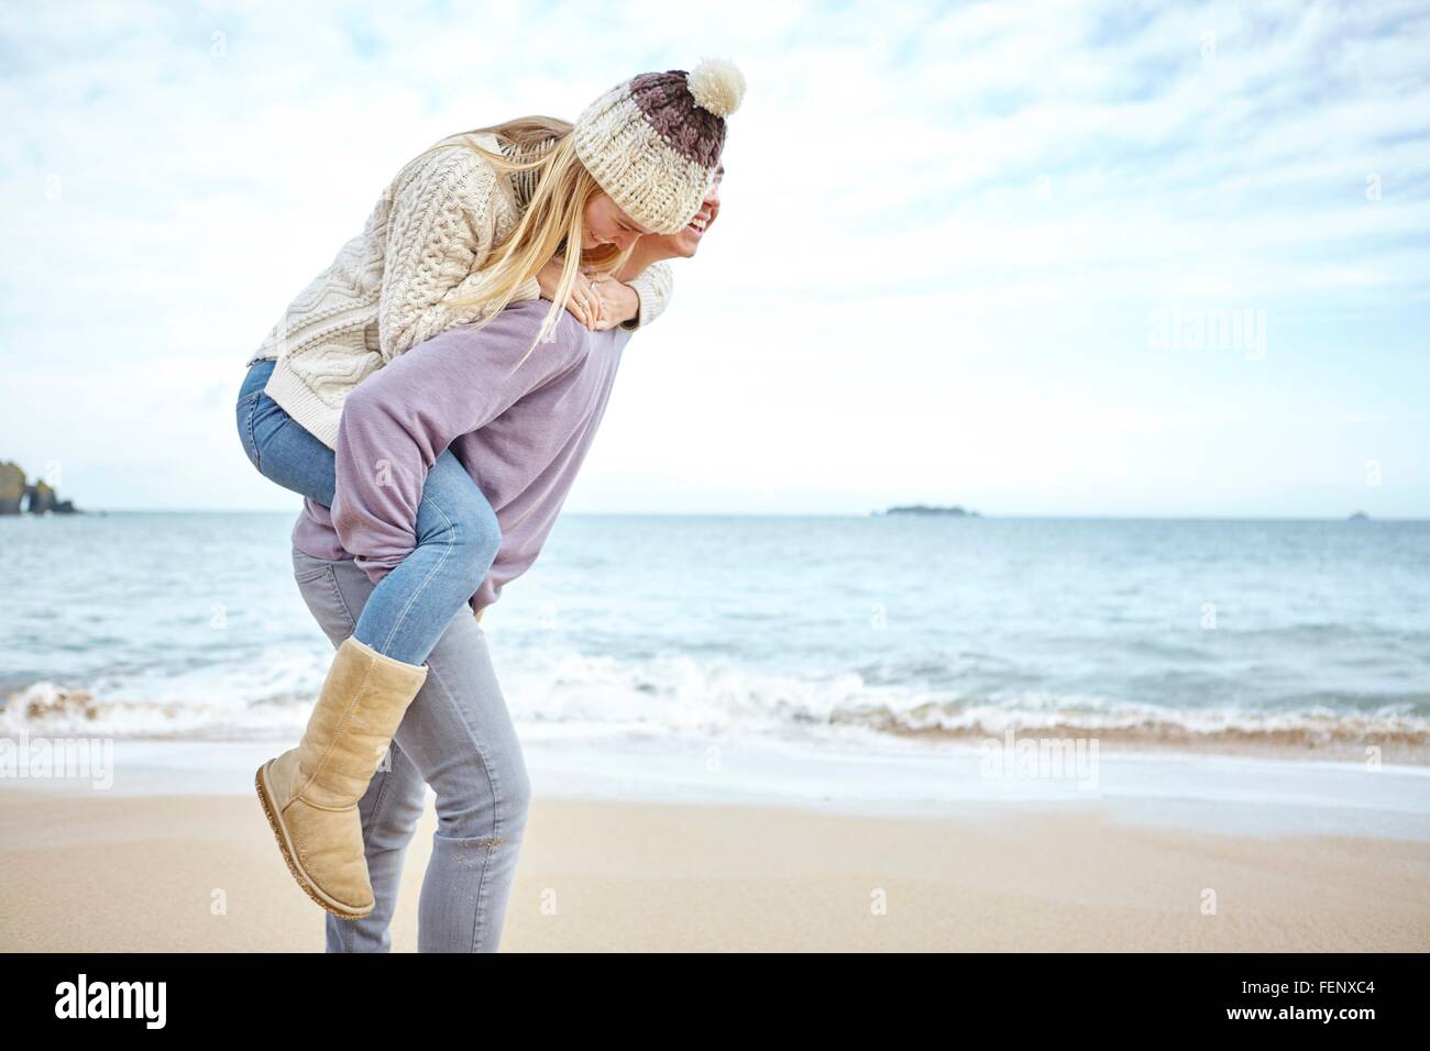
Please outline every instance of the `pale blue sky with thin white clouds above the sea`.
M10 3L0 459L293 509L243 363L439 137L734 60L579 512L1430 516L1430 3Z

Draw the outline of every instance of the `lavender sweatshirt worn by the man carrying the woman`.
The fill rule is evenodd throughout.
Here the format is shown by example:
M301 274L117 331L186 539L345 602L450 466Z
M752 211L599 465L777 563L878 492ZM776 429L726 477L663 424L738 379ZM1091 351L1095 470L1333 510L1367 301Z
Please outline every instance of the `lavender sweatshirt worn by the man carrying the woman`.
M422 486L450 446L502 526L470 605L480 613L496 602L555 525L632 333L592 332L563 312L553 340L532 349L549 307L519 302L478 330L448 329L359 383L343 403L332 510L305 500L293 546L352 558L380 581L416 546Z

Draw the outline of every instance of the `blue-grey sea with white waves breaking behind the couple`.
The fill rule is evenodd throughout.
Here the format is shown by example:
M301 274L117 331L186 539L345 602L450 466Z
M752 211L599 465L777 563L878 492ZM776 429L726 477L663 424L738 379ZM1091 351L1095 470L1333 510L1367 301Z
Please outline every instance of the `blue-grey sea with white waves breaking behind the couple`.
M292 516L0 519L6 732L292 739ZM1430 523L568 513L483 616L528 738L1430 742Z

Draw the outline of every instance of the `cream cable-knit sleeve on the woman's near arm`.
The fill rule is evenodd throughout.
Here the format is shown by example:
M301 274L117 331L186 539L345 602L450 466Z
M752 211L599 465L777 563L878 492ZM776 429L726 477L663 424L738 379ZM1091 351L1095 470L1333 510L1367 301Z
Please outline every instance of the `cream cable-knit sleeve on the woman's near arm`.
M388 220L378 342L383 362L455 325L482 316L459 305L480 290L492 246L492 194L498 173L473 152L455 146L418 162L399 183ZM512 302L536 299L528 277Z

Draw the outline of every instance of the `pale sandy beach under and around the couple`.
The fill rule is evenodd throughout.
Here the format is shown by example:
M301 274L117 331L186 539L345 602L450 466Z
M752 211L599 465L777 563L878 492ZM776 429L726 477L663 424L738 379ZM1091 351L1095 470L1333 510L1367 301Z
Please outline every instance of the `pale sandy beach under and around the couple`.
M1430 949L1430 842L1115 809L539 796L502 951ZM429 798L395 951L416 948L433 828ZM0 784L0 867L7 952L323 948L322 912L236 794Z

